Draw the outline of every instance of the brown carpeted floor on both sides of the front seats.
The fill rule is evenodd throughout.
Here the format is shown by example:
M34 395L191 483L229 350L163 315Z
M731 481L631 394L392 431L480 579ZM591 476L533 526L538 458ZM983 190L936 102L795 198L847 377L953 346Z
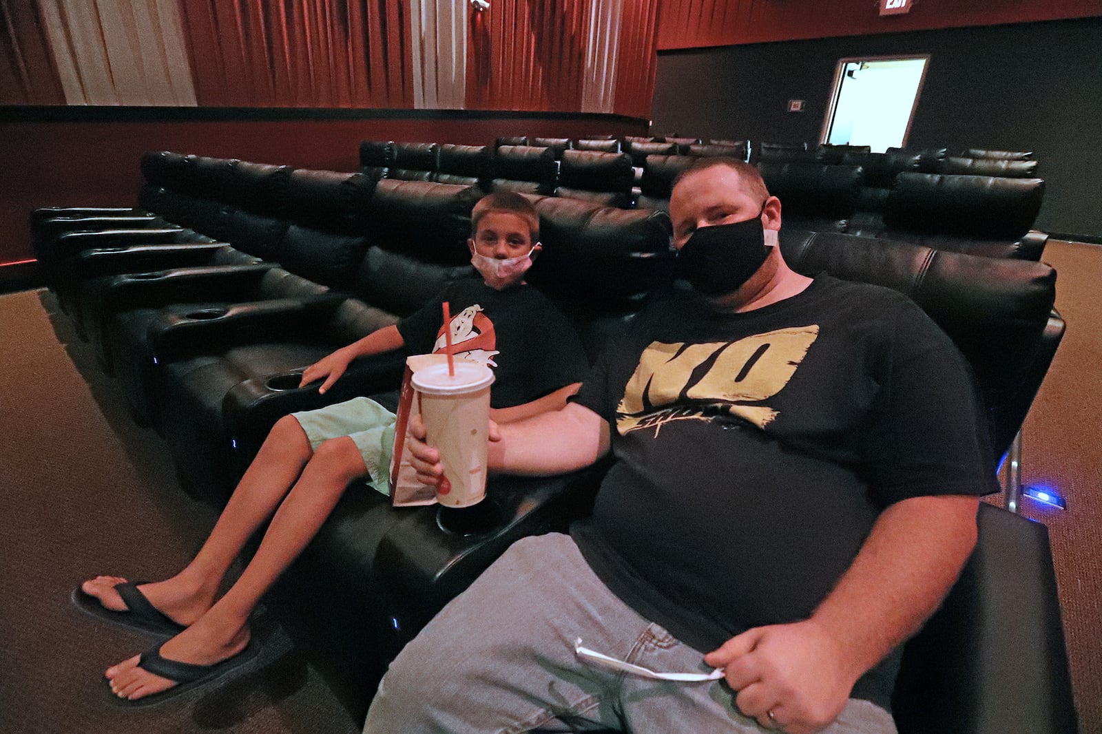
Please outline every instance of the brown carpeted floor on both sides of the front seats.
M1094 734L1102 732L1102 247L1055 241L1045 260L1059 272L1068 332L1025 423L1023 478L1060 492L1069 508L1026 500L1024 511L1049 528L1081 731ZM267 618L261 658L225 684L150 709L111 700L102 670L151 638L84 615L69 592L94 573L162 578L197 549L214 516L177 488L163 443L132 423L67 321L52 325L52 304L43 292L0 296L0 732L358 731Z

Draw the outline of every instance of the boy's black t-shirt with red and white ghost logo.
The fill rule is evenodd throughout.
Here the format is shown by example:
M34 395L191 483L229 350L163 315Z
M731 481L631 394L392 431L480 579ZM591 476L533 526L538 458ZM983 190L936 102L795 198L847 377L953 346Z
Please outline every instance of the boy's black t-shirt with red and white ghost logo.
M398 324L410 354L444 348L442 304L452 316L452 354L494 370L493 408L523 404L581 382L585 350L566 317L531 285L496 291L479 279L455 281Z

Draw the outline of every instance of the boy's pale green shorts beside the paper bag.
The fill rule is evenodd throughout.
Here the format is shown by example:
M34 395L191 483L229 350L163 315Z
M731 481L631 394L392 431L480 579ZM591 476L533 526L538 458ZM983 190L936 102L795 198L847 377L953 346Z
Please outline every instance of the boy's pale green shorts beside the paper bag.
M353 398L317 410L291 413L310 447L317 451L329 439L348 436L359 449L369 485L390 495L390 453L395 445L395 414L370 398Z

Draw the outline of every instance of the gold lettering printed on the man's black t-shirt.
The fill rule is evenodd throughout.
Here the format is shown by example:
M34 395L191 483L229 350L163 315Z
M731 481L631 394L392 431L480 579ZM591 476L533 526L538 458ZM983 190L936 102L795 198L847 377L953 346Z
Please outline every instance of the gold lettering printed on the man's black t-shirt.
M660 428L670 420L712 420L695 406L722 406L765 428L777 411L760 403L780 392L819 336L819 326L796 326L736 342L663 344L642 350L617 406L620 435ZM680 407L679 407L680 403Z

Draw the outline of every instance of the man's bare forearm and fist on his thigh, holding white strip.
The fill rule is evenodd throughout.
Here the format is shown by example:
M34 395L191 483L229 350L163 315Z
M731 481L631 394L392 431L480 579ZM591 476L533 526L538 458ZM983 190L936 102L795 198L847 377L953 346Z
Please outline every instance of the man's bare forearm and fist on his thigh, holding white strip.
M937 611L975 547L977 508L961 495L892 505L809 619L749 629L704 660L726 668L738 709L763 725L827 726L854 682Z

